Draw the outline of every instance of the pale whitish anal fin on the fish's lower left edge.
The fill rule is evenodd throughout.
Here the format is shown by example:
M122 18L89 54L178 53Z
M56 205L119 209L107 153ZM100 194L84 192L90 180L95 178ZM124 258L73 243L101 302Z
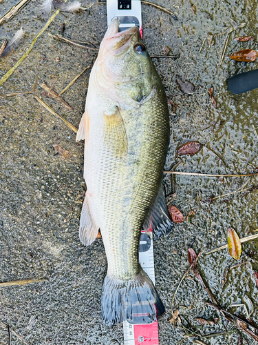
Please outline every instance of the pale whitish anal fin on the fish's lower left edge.
M80 214L80 242L85 246L92 244L98 235L99 226L96 224L89 204L89 196L86 192L83 208Z

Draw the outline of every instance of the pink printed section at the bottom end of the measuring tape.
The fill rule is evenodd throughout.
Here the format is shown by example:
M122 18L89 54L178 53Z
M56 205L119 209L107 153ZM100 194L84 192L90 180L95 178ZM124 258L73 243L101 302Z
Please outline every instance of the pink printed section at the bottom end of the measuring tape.
M158 345L158 322L133 326L135 345Z

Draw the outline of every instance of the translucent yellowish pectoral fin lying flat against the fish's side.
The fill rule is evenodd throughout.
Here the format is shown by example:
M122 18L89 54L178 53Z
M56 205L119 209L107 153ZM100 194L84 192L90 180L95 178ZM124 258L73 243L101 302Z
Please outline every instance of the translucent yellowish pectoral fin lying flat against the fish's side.
M118 108L112 115L104 115L104 143L117 157L127 154L127 132Z

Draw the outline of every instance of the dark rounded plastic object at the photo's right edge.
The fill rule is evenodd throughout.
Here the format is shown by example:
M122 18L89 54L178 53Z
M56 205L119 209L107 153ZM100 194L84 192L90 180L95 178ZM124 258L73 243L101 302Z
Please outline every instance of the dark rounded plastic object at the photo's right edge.
M228 90L235 95L258 88L258 69L239 73L228 79Z

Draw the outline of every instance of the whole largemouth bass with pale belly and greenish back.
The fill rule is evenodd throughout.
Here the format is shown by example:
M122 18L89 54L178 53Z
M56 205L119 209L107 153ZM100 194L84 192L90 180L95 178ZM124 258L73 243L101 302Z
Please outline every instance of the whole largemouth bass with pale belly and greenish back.
M76 136L85 139L87 184L79 235L85 245L99 228L103 237L107 325L150 323L164 313L138 252L142 227L148 233L169 223L162 187L169 144L166 95L138 28L118 27L115 18L100 44Z

